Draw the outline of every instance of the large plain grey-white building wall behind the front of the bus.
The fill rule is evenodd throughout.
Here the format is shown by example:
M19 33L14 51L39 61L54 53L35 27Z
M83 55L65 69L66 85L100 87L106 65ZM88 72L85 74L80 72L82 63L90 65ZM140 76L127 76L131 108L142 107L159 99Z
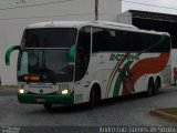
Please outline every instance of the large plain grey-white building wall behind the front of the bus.
M100 0L98 20L117 21L122 4L118 0ZM0 78L2 85L17 84L18 52L6 66L4 53L20 44L30 23L43 21L95 20L95 0L1 0L0 1Z

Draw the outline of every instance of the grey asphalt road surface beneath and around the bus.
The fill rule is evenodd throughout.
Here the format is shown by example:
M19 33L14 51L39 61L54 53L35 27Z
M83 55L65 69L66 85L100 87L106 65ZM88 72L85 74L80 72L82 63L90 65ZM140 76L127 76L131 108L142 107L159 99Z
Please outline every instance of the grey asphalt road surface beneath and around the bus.
M150 116L158 108L177 106L177 88L163 89L158 95L133 95L103 101L88 110L56 105L45 111L42 105L20 104L17 90L0 90L0 126L177 126L176 122Z

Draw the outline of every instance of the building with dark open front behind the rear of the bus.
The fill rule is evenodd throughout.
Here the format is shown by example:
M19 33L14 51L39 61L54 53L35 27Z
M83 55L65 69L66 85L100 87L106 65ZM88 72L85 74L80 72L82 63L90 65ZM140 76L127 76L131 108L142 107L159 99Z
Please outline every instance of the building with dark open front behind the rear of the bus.
M133 24L145 30L168 32L171 37L171 70L177 66L177 16L128 10L118 16L118 22Z

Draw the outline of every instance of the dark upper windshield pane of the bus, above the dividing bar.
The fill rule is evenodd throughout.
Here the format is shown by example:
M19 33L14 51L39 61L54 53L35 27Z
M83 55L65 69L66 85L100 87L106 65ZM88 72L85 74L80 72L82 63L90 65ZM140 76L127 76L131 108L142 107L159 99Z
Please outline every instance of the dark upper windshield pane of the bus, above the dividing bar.
M27 29L22 39L24 48L70 48L75 43L74 28Z

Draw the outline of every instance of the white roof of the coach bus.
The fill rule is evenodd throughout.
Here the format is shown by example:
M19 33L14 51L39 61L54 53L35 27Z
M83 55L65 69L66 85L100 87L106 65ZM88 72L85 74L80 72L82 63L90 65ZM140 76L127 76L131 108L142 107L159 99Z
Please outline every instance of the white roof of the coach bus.
M131 24L110 22L110 21L49 21L49 22L39 22L39 23L30 24L27 29L40 29L40 28L77 28L80 29L86 25L169 35L169 33L167 32L157 32L154 30L142 30Z

